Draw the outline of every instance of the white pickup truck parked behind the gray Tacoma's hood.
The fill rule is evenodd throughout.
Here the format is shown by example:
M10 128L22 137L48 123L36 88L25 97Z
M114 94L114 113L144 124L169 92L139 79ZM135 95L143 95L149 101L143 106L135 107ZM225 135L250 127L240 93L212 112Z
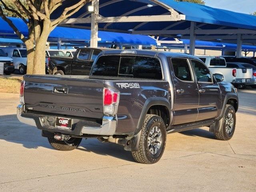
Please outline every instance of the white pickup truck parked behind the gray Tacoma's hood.
M238 87L243 87L252 78L252 69L227 67L226 60L218 56L197 56L210 69L212 74L222 74L224 81L230 82Z

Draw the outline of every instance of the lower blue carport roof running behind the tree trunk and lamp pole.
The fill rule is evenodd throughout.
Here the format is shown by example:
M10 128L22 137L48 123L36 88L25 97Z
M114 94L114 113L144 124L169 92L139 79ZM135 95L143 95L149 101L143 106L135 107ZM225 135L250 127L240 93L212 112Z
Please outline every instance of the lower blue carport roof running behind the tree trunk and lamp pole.
M28 28L20 18L10 18L17 28L24 34L28 35ZM0 36L17 38L13 29L0 18ZM90 30L56 27L49 35L49 41L57 41L60 38L62 41L90 41ZM117 32L99 31L98 37L100 42L118 42L122 44L139 44L139 45L156 45L156 40L146 35L124 34Z

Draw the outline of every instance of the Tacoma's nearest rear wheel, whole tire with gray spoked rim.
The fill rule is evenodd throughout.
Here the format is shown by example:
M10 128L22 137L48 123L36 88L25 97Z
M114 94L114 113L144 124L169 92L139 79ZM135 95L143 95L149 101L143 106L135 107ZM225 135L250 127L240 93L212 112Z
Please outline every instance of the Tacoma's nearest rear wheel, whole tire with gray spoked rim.
M166 144L166 126L160 116L147 114L138 150L132 152L136 162L153 164L160 160Z

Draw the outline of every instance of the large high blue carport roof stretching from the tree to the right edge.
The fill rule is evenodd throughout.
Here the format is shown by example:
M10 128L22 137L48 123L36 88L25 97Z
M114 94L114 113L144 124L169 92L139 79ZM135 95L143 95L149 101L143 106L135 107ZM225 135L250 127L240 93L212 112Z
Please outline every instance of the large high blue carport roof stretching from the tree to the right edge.
M63 6L59 7L53 14L52 18L57 18L63 11L64 7L71 6L79 0L64 1ZM152 7L146 7L148 3L153 4ZM217 2L216 2L217 3ZM86 12L86 4L70 18L85 18L90 16L90 12ZM108 4L108 5L106 5ZM142 9L140 9L142 8ZM205 25L203 28L218 28L218 26L226 26L230 28L243 28L256 30L256 17L249 14L242 14L232 12L229 10L222 10L204 6L200 4L177 2L175 0L100 0L99 14L104 17L115 16L142 16L142 15L161 15L170 12L168 9L173 8L177 12L186 15L186 21L193 21L199 23L210 24ZM128 14L127 14L128 13ZM174 22L149 22L144 24L136 30L161 30ZM127 31L138 26L140 22L125 22L125 23L112 23L106 30L116 29ZM100 28L104 28L106 24L99 24ZM75 24L74 26L90 26L90 24ZM184 29L189 27L190 24L182 22L173 29Z

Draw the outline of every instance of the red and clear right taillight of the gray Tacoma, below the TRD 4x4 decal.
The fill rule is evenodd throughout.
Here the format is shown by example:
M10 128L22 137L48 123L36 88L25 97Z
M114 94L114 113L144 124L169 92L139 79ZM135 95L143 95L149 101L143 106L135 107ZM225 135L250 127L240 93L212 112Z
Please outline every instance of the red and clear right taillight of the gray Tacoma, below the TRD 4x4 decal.
M118 108L120 93L110 88L103 89L103 113L115 115Z

